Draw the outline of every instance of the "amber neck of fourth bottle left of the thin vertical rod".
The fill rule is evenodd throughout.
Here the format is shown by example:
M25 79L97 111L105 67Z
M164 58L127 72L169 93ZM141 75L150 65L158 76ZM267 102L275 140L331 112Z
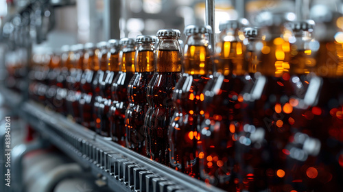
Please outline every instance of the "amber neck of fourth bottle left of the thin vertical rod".
M119 53L119 71L134 73L134 47L123 47Z

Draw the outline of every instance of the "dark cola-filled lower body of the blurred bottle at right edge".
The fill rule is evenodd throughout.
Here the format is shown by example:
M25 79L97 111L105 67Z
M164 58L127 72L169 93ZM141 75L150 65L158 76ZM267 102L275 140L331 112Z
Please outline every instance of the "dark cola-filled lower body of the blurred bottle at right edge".
M292 185L296 191L343 190L342 86L342 79L311 78L306 100L294 100L294 124L285 147L285 185ZM313 106L299 107L316 93L318 100Z

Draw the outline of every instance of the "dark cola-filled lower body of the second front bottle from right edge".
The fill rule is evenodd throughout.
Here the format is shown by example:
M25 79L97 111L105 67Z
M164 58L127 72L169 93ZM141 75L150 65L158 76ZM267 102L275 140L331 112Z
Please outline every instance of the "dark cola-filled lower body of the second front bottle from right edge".
M244 121L235 138L240 174L244 178L242 189L283 191L286 171L283 149L294 123L291 115L294 102L290 98L304 93L290 79L288 73L283 77L259 76L244 97L246 107L241 112Z

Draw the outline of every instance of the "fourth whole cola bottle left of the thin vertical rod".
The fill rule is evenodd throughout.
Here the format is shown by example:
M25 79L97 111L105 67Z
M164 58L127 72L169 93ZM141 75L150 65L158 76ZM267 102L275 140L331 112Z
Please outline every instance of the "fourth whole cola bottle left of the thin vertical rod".
M113 141L126 146L125 111L128 108L128 84L134 73L135 39L121 38L119 44L119 73L115 76L111 91L110 130Z

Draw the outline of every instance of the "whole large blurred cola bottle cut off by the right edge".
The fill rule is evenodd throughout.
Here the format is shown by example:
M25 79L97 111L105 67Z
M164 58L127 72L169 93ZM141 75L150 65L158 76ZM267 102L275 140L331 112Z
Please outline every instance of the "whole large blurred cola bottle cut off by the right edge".
M316 40L309 38L310 31L303 30L304 23L294 25L305 43L298 43L299 38L292 43L300 49L297 54L291 51L291 68L294 66L293 71L299 74L291 80L297 88L305 87L305 91L296 92L301 97L291 97L289 101L294 106L294 121L285 146L285 184L296 191L343 190L343 18L326 9L321 6L320 12L311 10L316 19Z

